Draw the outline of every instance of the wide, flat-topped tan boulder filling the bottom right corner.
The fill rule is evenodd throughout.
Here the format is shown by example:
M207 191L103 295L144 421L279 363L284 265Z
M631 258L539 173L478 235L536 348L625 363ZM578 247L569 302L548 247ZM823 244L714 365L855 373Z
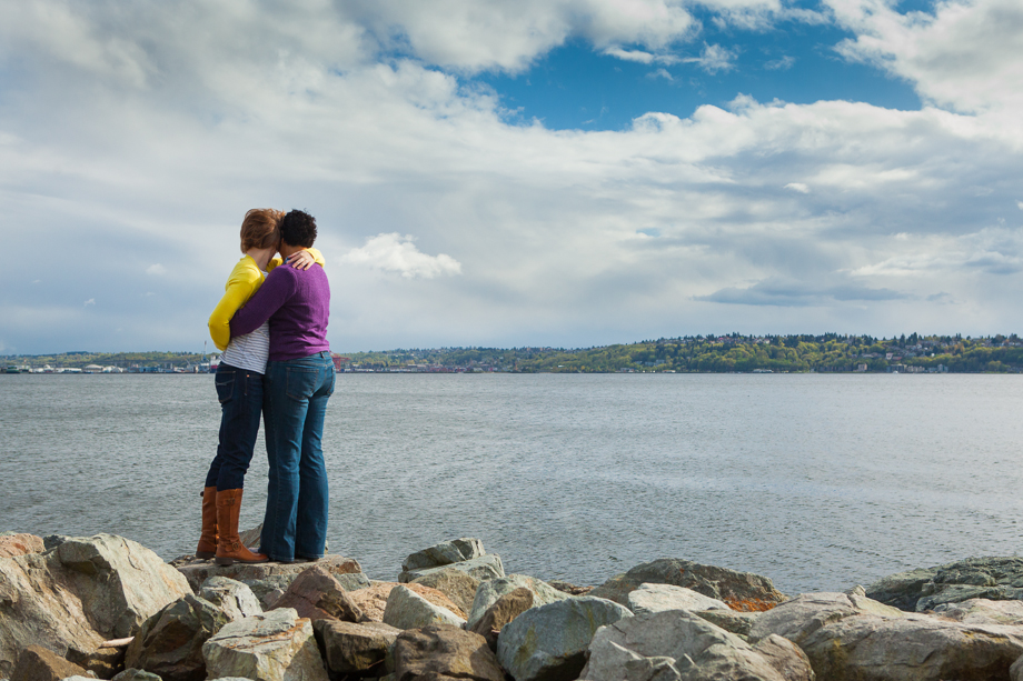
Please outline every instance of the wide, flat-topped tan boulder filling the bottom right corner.
M855 614L796 641L820 679L1005 679L1023 655L1017 627L964 624L923 614Z

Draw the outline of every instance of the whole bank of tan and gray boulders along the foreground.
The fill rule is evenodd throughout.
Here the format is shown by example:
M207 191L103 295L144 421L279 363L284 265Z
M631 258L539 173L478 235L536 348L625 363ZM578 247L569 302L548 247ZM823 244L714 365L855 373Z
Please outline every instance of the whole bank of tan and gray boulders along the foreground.
M682 559L548 583L468 538L387 582L340 555L217 567L112 534L6 533L7 679L1023 681L1023 559L786 597Z

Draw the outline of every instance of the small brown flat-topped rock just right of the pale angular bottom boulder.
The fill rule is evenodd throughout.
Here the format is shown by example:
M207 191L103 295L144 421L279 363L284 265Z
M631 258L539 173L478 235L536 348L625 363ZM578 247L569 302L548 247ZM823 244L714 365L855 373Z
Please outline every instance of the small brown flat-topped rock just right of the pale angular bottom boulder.
M316 640L332 674L369 675L384 662L400 629L383 622L341 622L317 620L312 623Z

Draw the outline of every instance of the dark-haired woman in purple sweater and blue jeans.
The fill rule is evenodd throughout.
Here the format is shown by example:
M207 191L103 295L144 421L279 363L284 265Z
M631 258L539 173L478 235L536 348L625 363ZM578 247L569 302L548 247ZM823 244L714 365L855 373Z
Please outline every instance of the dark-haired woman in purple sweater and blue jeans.
M280 222L280 254L310 248L316 220L292 210ZM231 319L231 337L270 322L264 374L269 484L260 553L289 563L322 558L327 539L327 469L321 440L334 360L327 344L330 286L322 268L271 271Z

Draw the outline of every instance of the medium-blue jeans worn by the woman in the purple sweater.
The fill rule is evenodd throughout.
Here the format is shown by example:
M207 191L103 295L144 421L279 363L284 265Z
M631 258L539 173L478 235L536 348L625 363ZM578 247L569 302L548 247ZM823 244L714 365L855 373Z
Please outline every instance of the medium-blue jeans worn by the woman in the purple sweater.
M322 558L328 489L321 444L334 360L319 352L268 362L265 388L270 480L259 552L278 562Z

